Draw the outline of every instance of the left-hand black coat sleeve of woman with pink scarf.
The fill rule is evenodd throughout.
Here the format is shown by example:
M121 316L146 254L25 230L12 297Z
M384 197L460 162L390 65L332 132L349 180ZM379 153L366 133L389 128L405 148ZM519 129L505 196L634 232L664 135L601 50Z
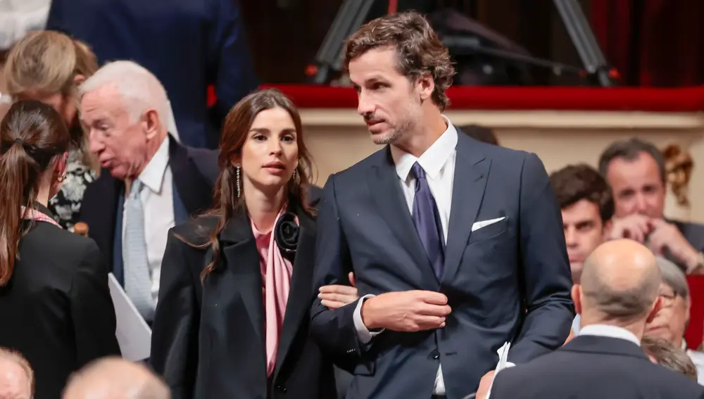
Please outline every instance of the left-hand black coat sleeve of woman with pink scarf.
M172 230L161 262L159 300L151 333L151 367L174 399L193 396L198 362L200 309L183 246Z

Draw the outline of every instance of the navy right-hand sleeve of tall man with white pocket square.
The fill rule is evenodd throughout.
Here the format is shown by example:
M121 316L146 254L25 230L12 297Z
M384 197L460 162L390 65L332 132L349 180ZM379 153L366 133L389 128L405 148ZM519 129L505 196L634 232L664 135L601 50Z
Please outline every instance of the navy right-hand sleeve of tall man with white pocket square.
M524 160L520 187L521 289L526 316L509 361L520 364L562 346L574 304L562 215L548 174L533 153Z

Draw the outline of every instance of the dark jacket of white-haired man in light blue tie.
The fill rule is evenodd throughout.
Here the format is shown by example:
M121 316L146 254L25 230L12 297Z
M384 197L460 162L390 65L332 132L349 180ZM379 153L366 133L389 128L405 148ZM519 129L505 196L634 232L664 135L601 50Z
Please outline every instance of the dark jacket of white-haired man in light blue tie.
M174 182L176 224L186 222L213 205L213 186L218 178L218 153L187 148L169 141L169 165ZM109 170L101 170L83 194L80 221L88 224L88 236L95 240L105 258L108 271L122 282L122 203L125 183ZM168 232L164 232L168 234Z

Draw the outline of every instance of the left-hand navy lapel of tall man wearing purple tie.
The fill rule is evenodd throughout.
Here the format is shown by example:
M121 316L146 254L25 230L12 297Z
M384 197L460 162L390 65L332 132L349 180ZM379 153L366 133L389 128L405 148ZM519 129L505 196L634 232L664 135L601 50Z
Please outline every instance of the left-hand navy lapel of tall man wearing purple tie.
M377 152L375 156L377 156L379 162L369 170L367 182L372 198L374 198L377 208L379 208L379 213L386 220L391 232L394 232L394 236L396 236L398 241L401 241L406 251L413 256L413 259L417 259L427 266L428 270L432 271L432 265L430 265L430 260L420 242L413 224L413 218L408 211L406 198L403 196L403 191L401 191L401 184L396 174L394 161L391 160L389 147L386 146L384 150Z

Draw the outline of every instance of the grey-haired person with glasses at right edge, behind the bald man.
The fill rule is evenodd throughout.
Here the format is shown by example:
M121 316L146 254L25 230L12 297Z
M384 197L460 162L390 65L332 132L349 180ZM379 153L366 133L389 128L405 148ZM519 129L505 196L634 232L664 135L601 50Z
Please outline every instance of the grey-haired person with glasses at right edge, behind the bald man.
M660 283L660 310L652 321L646 324L645 336L662 338L675 348L686 351L697 368L699 384L704 385L704 353L689 350L684 341L684 331L689 324L691 297L684 272L665 258L656 258L662 282Z

